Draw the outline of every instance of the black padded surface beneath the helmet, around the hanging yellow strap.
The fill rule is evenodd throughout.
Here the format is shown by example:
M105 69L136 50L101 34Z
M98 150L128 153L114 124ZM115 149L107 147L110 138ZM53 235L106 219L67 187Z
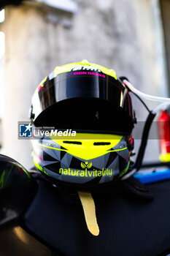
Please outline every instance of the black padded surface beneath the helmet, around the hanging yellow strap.
M80 200L72 195L75 200L65 200L58 189L39 181L24 225L62 255L166 255L170 252L170 181L147 187L154 194L151 201L120 191L93 192L100 228L95 237L85 225Z

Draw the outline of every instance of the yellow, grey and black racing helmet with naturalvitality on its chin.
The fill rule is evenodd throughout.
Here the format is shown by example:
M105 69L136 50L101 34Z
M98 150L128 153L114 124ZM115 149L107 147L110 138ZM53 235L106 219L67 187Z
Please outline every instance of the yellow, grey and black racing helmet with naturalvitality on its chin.
M115 70L87 60L55 67L34 92L30 118L34 129L52 129L31 143L34 165L53 182L95 187L128 172L134 110Z

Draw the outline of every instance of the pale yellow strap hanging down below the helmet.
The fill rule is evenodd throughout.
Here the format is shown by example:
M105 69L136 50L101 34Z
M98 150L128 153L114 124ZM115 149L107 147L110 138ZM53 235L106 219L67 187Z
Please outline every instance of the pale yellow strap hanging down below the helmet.
M85 214L85 222L88 226L88 230L93 236L98 236L99 227L96 219L96 208L93 197L90 192L78 191L82 208Z

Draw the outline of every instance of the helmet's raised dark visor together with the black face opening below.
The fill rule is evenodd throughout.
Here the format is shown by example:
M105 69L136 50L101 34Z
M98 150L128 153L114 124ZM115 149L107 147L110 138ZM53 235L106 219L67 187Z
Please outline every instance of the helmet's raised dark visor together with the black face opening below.
M131 97L119 80L98 72L67 72L45 81L33 102L34 124L56 129L129 133ZM121 129L120 129L121 128Z

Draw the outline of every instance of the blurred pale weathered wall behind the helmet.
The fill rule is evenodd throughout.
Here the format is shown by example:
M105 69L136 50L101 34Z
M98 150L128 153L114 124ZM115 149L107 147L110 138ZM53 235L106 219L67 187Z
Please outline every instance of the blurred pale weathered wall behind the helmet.
M1 153L31 167L30 142L18 140L18 121L28 121L36 86L57 65L88 59L147 94L169 96L169 12L168 0L37 0L6 7L0 25ZM134 108L144 121L147 112L136 99ZM138 140L135 145L137 150ZM150 140L144 160L158 153L158 140Z

